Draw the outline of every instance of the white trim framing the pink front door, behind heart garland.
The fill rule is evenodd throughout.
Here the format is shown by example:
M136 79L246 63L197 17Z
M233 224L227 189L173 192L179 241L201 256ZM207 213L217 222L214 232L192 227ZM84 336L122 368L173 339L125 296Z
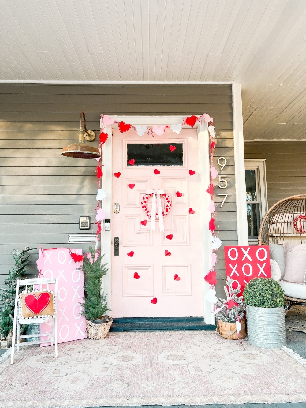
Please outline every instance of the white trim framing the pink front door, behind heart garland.
M160 124L171 124L171 123L182 123L182 120L186 118L184 116L116 116L112 115L112 118L115 118L116 121L120 122L123 121L125 123L129 123L131 125L160 125ZM183 126L186 129L191 129L190 126ZM112 133L113 129L118 129L118 124L113 124L110 126L104 127L104 132L109 135L109 139L106 142L105 146L102 146L102 161L101 163L106 165L106 167L102 167L103 177L102 177L102 188L105 190L107 194L107 198L102 201L102 208L106 214L106 218L111 219L111 214L113 211L113 203L112 203L112 180L113 180L113 169L112 169L112 149L113 149L113 140L112 140ZM199 157L200 157L200 202L201 202L201 224L202 224L202 259L203 259L203 271L202 276L209 271L211 268L210 265L210 257L205 256L207 254L207 248L209 254L211 253L211 241L210 241L210 232L208 229L208 222L210 220L211 214L208 211L208 204L210 202L210 197L206 193L206 188L209 184L209 143L208 143L208 126L207 123L204 122L202 125L198 124L194 126L194 129L197 130L197 137L199 141ZM157 140L158 136L156 135ZM141 137L139 139L141 141ZM205 166L205 163L207 164ZM111 259L112 259L112 240L113 240L113 232L112 232L112 224L111 224L111 231L104 231L104 225L102 224L102 231L101 231L101 251L105 253L104 257L102 258L102 263L107 263L109 271L102 282L102 290L107 293L107 304L109 308L111 308ZM208 292L210 285L207 284L203 279L203 291L204 295ZM212 313L213 305L204 301L203 304L203 316L204 322L206 324L215 324L215 317Z

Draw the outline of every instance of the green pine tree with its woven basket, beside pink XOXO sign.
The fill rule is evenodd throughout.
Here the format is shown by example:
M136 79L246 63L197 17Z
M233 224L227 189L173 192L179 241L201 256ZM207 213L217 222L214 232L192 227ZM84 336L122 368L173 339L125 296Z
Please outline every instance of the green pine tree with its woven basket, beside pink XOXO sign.
M105 315L111 309L107 307L106 295L101 292L101 279L108 271L105 268L107 264L101 264L103 256L90 246L89 253L84 257L83 266L80 268L87 275L84 286L86 296L83 297L84 303L80 304L84 307L82 315L86 317L87 337L90 339L104 339L113 322L110 316Z

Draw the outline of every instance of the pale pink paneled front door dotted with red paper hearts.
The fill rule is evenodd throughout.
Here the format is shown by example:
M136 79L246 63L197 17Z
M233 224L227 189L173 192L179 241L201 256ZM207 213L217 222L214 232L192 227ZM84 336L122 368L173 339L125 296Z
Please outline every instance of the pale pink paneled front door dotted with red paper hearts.
M112 244L112 317L203 316L196 131L182 129L175 135L167 129L162 137L139 137L133 130L114 130L112 163L112 205L120 206L119 213L112 213L112 240L119 237L119 256ZM164 190L172 202L163 217L165 232L158 220L150 231L151 219L142 208L151 189ZM161 201L164 209L164 197ZM151 203L152 196L150 211Z

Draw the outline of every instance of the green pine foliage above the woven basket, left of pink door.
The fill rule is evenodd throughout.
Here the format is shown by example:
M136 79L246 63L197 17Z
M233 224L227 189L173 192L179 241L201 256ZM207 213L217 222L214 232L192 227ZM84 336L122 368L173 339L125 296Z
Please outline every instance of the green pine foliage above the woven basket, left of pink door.
M104 255L100 256L95 253L95 249L89 247L88 257L83 259L83 271L87 275L87 281L84 286L86 297L83 297L84 303L80 303L84 307L83 316L87 320L100 319L108 310L106 295L101 292L101 279L106 275L108 269L105 268L107 264L101 265L101 259ZM80 267L82 270L82 267Z

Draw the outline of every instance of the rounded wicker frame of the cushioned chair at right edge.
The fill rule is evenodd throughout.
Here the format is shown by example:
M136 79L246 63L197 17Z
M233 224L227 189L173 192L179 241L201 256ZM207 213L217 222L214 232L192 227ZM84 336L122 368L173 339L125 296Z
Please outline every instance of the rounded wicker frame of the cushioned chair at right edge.
M293 225L294 222L297 224L296 227ZM267 211L262 220L258 245L282 245L283 242L292 244L306 242L306 194L292 195L280 200ZM289 296L285 298L290 303L289 308L293 304L306 304L305 299Z

